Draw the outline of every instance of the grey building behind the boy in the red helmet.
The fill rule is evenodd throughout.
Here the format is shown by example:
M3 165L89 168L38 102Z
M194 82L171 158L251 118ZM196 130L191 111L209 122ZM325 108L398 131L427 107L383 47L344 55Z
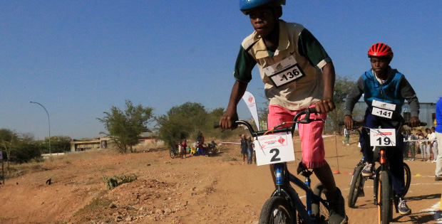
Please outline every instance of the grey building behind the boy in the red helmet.
M421 122L426 122L426 127L436 126L434 121L436 120L436 102L419 102L421 109L419 110L419 119ZM364 119L365 110L367 105L364 101L359 101L354 105L353 119L360 120ZM405 102L402 106L402 117L408 122L411 118L410 107L408 103Z

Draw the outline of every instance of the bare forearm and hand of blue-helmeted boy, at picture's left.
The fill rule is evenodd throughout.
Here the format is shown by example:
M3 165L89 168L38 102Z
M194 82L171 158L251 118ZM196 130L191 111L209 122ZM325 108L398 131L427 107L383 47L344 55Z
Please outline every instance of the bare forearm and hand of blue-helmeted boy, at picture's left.
M247 82L236 81L230 93L230 100L224 115L220 119L220 127L222 129L234 129L234 122L238 119L237 105L240 102L245 90L247 89Z

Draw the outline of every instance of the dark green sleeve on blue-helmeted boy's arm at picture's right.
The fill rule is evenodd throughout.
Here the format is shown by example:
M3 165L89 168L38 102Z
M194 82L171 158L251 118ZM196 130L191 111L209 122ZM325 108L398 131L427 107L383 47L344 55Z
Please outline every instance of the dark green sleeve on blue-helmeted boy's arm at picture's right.
M329 57L321 43L319 43L317 38L314 38L307 28L304 28L299 35L298 50L299 54L307 58L310 64L317 70L332 61L332 58Z

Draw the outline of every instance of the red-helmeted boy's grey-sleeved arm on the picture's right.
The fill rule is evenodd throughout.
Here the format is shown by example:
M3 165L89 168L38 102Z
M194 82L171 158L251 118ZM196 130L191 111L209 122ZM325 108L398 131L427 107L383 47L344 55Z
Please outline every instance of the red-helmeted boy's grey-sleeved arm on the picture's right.
M410 82L406 80L405 76L402 76L401 81L399 82L399 87L401 88L401 95L408 102L408 106L410 107L410 124L411 127L418 127L421 124L419 120L419 101L416 96L416 92L414 92L413 87L411 87Z

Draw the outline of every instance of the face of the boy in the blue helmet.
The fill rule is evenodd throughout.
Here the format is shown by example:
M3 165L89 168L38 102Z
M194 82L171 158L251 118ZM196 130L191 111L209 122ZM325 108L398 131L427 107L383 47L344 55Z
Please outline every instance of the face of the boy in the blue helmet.
M249 16L259 36L266 37L273 31L276 20L272 9L256 9L251 11Z

